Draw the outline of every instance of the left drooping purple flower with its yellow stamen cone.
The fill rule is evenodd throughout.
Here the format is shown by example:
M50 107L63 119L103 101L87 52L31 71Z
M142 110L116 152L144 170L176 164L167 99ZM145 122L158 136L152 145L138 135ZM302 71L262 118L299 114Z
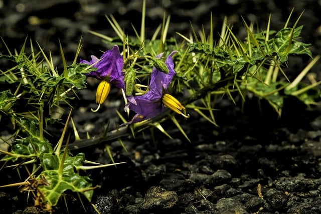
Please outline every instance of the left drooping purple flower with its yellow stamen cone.
M124 89L124 72L122 72L122 67L124 65L123 58L119 53L118 46L114 45L111 50L104 52L100 59L91 56L90 62L80 59L80 63L92 65L94 68L97 68L96 71L91 71L85 75L101 80L96 92L96 103L98 103L98 108L92 110L98 111L100 105L103 104L109 94L110 84L117 88Z

